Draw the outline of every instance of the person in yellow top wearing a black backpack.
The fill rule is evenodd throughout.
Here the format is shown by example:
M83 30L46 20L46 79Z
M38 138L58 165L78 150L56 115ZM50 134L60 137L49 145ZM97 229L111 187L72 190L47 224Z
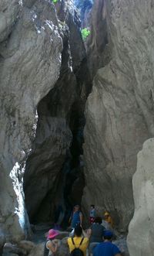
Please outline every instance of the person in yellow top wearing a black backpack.
M82 234L84 234L85 237L82 237ZM86 256L86 249L89 246L89 238L86 237L85 232L82 230L82 227L79 224L75 226L75 237L68 238L68 245L70 253L75 248L79 248L84 256Z

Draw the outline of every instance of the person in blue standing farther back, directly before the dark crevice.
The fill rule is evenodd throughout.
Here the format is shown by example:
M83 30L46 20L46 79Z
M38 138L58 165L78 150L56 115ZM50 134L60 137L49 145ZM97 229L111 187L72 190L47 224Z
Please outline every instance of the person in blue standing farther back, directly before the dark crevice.
M73 208L72 216L70 217L71 227L74 229L76 225L80 224L82 226L82 212L80 211L79 205L75 205Z

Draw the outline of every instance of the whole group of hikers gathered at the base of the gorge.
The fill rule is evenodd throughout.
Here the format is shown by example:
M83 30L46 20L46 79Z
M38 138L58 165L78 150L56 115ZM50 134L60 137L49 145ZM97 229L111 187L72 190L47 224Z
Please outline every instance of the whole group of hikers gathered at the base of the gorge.
M90 227L85 231L82 228L82 212L79 205L73 208L70 217L71 232L67 240L71 256L121 256L119 248L112 244L113 221L109 212L104 213L102 217L95 216L95 206L91 205L89 222ZM55 254L58 243L55 239L59 235L59 230L49 230L45 249L50 254ZM49 252L48 251L48 252Z

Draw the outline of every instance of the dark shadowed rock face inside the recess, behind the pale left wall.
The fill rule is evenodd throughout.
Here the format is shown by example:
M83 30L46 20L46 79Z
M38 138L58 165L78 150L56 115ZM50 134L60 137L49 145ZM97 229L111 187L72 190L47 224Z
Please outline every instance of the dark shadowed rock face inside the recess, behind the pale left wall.
M26 162L24 176L25 203L32 223L56 222L56 215L59 215L56 212L60 208L64 217L68 191L71 190L74 179L82 176L82 169L79 167L82 142L76 141L80 131L79 140L82 138L84 125L79 120L83 119L88 91L85 80L88 72L85 48L79 21L75 13L71 12L73 9L70 9L72 6L65 5L62 1L56 8L62 27L62 67L55 87L39 103L35 142ZM84 79L81 75L83 70ZM76 172L75 176L70 172ZM71 179L70 184L67 179ZM77 186L76 183L75 187ZM74 187L73 189L75 190ZM79 193L82 193L82 186ZM81 200L81 196L78 200Z

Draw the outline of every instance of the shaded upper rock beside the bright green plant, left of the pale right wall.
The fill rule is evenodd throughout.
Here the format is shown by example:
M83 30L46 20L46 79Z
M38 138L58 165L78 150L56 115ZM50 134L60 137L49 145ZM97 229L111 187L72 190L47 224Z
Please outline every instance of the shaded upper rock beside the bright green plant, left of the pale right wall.
M91 2L91 0L87 0L87 2ZM110 52L105 0L94 1L91 8L85 10L82 27L90 30L90 36L85 40L85 49L89 71L93 78L100 67L109 63Z

